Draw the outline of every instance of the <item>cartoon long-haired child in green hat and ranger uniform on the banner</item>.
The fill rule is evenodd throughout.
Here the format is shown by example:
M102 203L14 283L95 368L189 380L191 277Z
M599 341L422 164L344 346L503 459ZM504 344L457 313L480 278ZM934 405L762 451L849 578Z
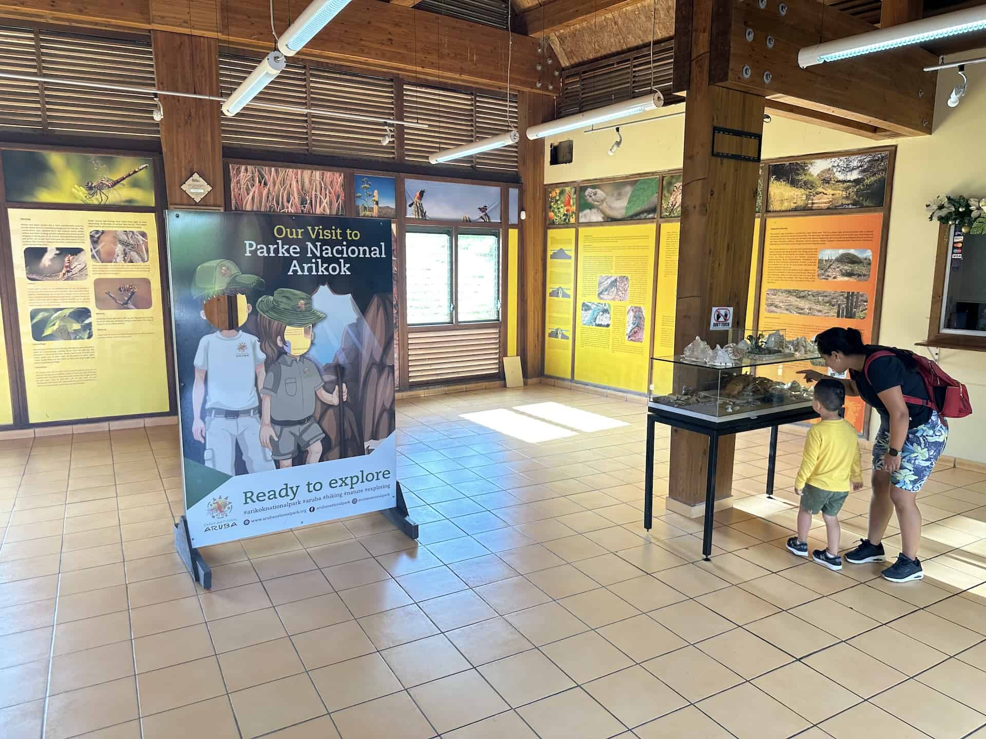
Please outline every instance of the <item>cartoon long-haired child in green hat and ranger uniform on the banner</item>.
M331 393L315 362L305 356L312 346L312 327L325 313L312 306L312 296L279 288L256 302L260 348L266 357L260 389L260 443L270 449L278 467L290 467L306 452L305 464L320 461L325 433L315 420L316 398L339 404L339 388ZM342 400L347 397L342 385Z

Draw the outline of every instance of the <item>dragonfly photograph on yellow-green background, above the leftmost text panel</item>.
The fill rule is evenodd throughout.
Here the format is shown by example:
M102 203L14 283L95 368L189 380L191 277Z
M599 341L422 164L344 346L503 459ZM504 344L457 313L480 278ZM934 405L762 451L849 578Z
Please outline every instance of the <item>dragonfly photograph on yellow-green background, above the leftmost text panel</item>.
M143 157L11 149L3 174L9 203L154 205L154 163Z

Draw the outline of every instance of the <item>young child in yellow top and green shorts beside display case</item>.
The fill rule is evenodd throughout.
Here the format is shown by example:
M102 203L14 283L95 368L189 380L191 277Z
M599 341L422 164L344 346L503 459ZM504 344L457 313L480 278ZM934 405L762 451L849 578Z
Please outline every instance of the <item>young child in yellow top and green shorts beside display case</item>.
M839 556L838 512L854 491L863 489L860 449L856 429L839 416L846 400L846 389L834 379L821 379L814 386L814 412L821 421L812 426L805 439L802 466L795 479L795 493L801 496L798 510L798 536L788 539L788 550L808 557L808 530L811 516L821 511L828 534L828 549L816 549L811 558L829 570L842 570Z

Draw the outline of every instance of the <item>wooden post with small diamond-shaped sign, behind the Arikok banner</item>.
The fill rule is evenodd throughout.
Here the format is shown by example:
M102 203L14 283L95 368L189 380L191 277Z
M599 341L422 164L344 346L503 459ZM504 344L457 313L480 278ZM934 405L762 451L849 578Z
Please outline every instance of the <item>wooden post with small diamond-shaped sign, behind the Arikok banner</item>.
M159 90L219 95L219 42L205 36L153 32ZM170 208L223 208L222 111L218 101L163 96L161 149ZM212 190L196 203L181 189L198 172Z

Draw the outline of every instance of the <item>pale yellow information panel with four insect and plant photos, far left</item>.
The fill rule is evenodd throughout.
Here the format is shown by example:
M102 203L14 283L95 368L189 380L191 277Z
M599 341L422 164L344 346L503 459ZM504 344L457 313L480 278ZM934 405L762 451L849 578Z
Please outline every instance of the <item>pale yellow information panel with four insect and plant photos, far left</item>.
M168 411L154 214L9 216L29 422Z

